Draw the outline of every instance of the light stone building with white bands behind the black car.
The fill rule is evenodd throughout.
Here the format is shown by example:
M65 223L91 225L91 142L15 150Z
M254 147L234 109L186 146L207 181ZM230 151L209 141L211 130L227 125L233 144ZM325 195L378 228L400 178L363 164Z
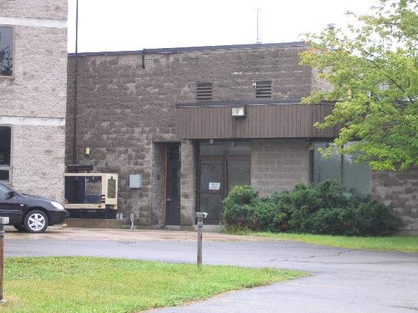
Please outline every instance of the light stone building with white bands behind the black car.
M64 200L67 0L0 1L0 180Z

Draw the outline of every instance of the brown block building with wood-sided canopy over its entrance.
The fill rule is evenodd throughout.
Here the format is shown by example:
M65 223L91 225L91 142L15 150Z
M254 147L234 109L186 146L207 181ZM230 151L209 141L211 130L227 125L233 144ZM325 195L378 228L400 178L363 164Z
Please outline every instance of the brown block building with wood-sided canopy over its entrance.
M206 225L219 225L222 199L235 184L269 195L337 178L347 193L394 202L403 231L418 230L415 170L372 172L351 157L318 154L338 129L313 126L332 104L300 104L312 90L329 88L300 65L298 54L308 48L289 42L70 54L65 163L118 173L117 212L125 224L134 214L135 227L193 228L195 211L208 213ZM140 175L141 188L130 187L132 175Z

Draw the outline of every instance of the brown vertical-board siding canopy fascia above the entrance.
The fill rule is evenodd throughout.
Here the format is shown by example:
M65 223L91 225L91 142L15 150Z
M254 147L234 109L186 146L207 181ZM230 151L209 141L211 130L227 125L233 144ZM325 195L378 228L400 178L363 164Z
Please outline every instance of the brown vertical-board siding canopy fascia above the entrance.
M231 106L176 108L176 136L181 139L332 138L341 127L317 129L332 113L330 104L247 106L245 118L233 118Z

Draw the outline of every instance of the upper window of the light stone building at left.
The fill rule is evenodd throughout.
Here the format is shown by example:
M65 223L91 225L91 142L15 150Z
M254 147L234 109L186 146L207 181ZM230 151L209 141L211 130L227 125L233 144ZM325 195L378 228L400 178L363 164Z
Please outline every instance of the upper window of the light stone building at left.
M0 26L0 76L13 76L14 37L12 26Z

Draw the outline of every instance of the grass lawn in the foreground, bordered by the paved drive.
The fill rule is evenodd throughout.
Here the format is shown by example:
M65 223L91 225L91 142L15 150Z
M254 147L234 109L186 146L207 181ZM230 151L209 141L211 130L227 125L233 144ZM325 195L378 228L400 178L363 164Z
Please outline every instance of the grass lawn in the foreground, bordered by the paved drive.
M135 312L300 278L279 268L99 257L6 257L1 312Z

